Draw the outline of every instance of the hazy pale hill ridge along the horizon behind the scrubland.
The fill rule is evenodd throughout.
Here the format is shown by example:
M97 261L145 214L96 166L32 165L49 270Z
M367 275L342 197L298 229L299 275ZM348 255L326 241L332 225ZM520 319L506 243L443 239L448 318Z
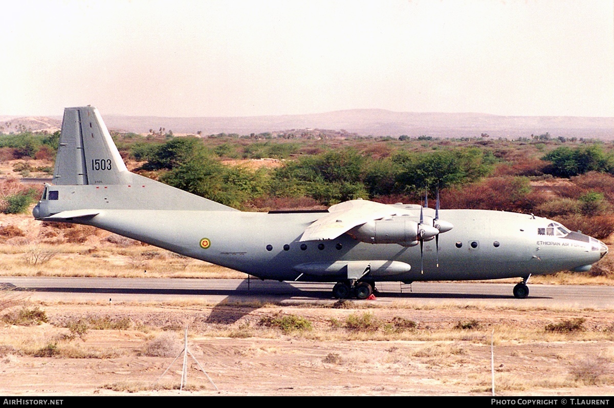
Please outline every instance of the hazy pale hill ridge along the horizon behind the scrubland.
M476 137L486 133L491 137L530 137L550 133L553 137L585 137L614 139L614 118L499 116L488 114L442 114L392 112L383 109L338 110L324 114L280 115L254 117L142 117L107 115L101 112L110 129L149 133L165 128L176 134L203 135L218 133L251 134L290 131L292 129L332 129L360 136L392 136L406 134L433 137ZM2 117L0 117L1 120ZM39 129L49 125L60 128L61 118L12 118L13 125ZM5 121L0 122L0 126ZM44 128L47 129L47 128ZM6 132L6 128L5 128Z

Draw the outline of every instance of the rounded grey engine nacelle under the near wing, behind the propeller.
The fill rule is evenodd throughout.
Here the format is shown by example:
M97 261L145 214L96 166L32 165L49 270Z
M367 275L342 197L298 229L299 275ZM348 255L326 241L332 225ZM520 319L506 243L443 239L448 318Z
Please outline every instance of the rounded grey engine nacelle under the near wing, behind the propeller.
M355 239L369 244L399 244L413 247L422 238L432 239L439 233L437 228L397 217L389 220L375 220L348 231Z

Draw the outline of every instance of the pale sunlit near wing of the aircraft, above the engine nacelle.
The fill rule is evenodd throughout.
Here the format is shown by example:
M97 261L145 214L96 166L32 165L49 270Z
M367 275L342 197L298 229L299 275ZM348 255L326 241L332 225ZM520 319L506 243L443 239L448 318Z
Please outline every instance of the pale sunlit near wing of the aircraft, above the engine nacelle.
M299 241L335 239L356 226L400 214L409 214L409 212L398 207L368 200L340 202L331 206L327 215L305 228L305 232Z

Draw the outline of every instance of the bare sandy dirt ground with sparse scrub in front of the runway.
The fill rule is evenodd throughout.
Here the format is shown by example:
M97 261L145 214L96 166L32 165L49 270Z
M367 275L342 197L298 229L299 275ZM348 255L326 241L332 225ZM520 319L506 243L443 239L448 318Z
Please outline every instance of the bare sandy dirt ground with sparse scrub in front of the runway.
M338 309L333 304L28 307L36 306L47 323L0 328L2 395L488 396L491 339L497 395L614 394L611 310L420 308L402 301L387 307L349 302ZM279 316L303 317L311 329L262 324ZM378 324L351 329L352 317ZM584 319L578 333L544 329L577 318ZM87 331L75 328L80 319L89 319ZM410 320L414 328L395 326ZM107 327L94 329L93 321L106 321ZM109 322L123 327L109 328ZM455 328L461 323L473 326ZM185 325L192 353L187 389L161 389L181 383L183 355L173 360L182 350ZM169 356L148 355L160 339Z

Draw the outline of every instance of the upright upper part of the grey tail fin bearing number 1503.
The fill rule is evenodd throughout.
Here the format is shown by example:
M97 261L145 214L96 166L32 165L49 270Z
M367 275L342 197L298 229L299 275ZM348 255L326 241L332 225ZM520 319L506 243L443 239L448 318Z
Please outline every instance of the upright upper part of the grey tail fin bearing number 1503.
M129 172L98 109L64 109L55 185L115 185L129 182Z

